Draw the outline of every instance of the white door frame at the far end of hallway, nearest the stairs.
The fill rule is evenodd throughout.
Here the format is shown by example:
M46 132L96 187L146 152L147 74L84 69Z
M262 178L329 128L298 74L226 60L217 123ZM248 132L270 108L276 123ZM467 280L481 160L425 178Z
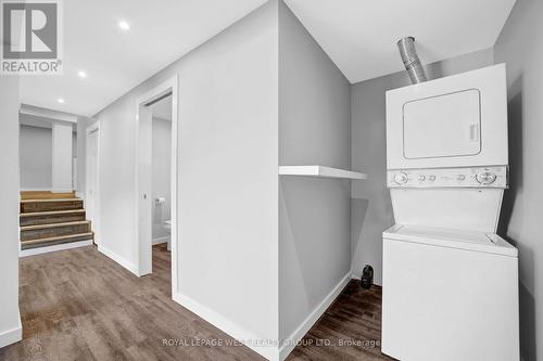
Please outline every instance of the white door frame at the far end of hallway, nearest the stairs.
M89 185L89 138L90 134L97 132L97 164L96 164L96 189L92 194L92 228L94 230L94 243L101 245L100 241L100 152L101 152L101 131L100 131L100 120L91 124L87 127L85 131L85 203L88 203L88 185Z

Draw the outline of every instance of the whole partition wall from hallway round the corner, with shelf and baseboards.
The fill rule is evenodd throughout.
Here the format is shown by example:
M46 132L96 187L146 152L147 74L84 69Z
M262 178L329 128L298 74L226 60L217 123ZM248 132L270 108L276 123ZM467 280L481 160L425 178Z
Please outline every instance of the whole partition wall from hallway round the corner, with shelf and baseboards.
M283 359L351 278L349 82L272 0L97 114L101 248L138 275L139 105L173 77L173 298Z

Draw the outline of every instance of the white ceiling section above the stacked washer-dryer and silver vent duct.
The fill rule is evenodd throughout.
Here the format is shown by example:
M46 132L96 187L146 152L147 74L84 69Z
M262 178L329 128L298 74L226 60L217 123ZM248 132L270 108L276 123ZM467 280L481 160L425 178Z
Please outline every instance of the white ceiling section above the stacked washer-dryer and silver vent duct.
M286 0L351 82L403 69L396 41L422 63L493 47L515 0Z

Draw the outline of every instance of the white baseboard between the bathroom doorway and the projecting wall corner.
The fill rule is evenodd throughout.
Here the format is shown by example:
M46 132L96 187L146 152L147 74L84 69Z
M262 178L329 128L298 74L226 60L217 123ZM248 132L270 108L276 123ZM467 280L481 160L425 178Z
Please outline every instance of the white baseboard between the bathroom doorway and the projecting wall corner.
M261 337L256 337L255 335L251 334L240 325L238 325L236 322L232 322L231 320L227 319L223 314L219 314L218 312L207 308L206 306L198 302L197 300L185 296L182 294L177 294L174 295L173 299L188 309L189 311L198 314L215 327L222 330L223 332L227 333L238 341L242 343L256 353L261 354L262 357L270 360L270 361L279 361L279 350L277 348L277 345L270 345L270 346L263 346L263 345L257 345L257 340L261 339ZM251 343L253 340L253 343Z

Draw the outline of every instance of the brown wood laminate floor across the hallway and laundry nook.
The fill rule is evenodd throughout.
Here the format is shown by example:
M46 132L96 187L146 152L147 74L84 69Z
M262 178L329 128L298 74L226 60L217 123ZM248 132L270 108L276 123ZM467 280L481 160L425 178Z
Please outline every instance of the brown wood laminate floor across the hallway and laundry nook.
M264 360L225 345L232 338L172 300L169 262L164 245L141 279L93 246L21 259L23 340L0 349L0 360ZM288 360L387 359L380 310L380 288L352 281Z

